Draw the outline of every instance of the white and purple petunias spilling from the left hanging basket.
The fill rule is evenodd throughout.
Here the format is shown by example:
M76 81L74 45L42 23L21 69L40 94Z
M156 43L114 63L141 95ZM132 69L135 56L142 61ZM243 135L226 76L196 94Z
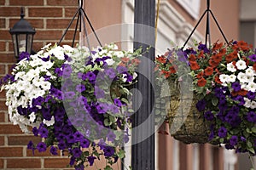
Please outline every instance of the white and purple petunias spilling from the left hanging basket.
M140 52L119 51L115 44L92 50L49 44L38 54L20 54L3 88L9 120L43 139L27 148L67 152L76 169L104 157L111 169L125 156L122 144L130 136L129 87Z

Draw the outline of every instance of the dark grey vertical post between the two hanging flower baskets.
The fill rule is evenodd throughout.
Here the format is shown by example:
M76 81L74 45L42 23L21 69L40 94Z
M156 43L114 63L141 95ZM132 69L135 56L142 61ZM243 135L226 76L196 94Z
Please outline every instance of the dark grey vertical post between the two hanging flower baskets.
M135 0L134 23L134 48L143 47L143 51L145 51L148 46L152 46L153 48L150 48L149 52L143 56L154 61L155 0ZM148 26L148 28L137 24ZM149 42L150 44L144 44L143 42ZM141 92L143 101L133 116L133 127L138 127L145 122L154 105L154 68L147 63L141 63L138 70L148 72L149 76L146 78L143 75L138 75L136 88ZM133 104L137 105L136 94L133 99ZM142 133L154 132L154 119L148 122L147 127L148 129L144 129L143 132L132 131L132 141L142 138ZM147 139L138 144L133 143L131 155L132 169L154 170L154 134L148 133Z

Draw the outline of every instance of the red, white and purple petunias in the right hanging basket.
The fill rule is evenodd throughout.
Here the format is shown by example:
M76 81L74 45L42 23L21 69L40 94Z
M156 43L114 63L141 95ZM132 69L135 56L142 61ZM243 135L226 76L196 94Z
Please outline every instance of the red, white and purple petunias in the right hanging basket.
M166 78L182 82L191 77L190 90L199 99L196 107L211 122L209 142L255 155L255 51L243 41L195 47L173 48L156 57L159 82Z

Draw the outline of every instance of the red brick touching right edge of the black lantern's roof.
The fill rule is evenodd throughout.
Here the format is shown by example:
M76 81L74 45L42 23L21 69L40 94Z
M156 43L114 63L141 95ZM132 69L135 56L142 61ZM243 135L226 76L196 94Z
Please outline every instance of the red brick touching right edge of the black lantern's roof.
M61 39L62 31L37 31L35 39L40 40L59 40Z

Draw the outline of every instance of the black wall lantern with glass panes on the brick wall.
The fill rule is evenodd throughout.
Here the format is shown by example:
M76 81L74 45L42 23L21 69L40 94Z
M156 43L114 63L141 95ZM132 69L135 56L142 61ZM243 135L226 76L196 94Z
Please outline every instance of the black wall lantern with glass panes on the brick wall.
M36 33L29 22L24 19L24 8L20 10L20 20L9 30L12 35L15 57L18 58L21 52L32 54L33 36Z

